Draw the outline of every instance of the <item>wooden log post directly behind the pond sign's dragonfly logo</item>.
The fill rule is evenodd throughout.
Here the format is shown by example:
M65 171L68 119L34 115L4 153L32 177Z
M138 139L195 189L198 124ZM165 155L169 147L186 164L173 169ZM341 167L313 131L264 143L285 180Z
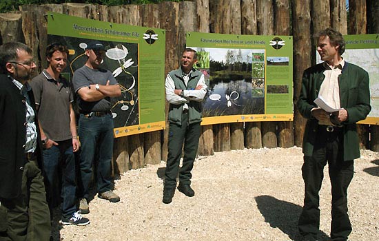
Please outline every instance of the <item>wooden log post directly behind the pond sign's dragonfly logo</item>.
M275 1L274 5L274 33L276 35L290 35L291 17L289 12L289 0ZM278 124L278 147L294 146L294 122L280 121Z

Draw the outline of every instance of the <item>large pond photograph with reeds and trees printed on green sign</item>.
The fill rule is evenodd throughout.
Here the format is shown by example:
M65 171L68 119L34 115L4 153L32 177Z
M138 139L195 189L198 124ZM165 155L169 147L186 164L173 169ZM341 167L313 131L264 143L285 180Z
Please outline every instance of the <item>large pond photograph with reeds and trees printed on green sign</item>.
M193 49L198 54L194 67L208 85L204 117L264 114L265 50Z

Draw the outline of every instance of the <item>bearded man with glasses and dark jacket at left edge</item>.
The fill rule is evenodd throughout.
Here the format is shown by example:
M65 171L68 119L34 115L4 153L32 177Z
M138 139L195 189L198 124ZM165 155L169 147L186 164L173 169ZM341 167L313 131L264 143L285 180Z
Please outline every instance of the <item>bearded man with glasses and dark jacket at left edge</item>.
M28 80L36 65L23 43L0 46L0 240L49 240L41 135Z

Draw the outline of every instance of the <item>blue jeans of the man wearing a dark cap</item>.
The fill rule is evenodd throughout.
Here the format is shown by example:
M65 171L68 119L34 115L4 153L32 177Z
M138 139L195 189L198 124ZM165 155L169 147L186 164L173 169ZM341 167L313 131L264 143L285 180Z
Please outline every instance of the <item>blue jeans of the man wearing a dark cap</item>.
M92 179L92 165L96 158L97 191L103 193L111 187L111 161L113 155L113 118L105 116L89 116L83 114L79 118L79 137L81 154L81 182L83 198L88 199L89 186ZM95 155L96 154L96 155Z

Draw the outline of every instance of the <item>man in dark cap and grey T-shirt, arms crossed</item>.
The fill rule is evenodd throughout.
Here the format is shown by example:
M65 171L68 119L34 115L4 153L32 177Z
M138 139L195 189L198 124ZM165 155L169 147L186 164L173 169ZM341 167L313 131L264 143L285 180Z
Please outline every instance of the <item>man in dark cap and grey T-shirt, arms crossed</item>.
M119 202L120 198L111 190L111 160L113 155L113 117L110 97L121 96L121 88L109 70L100 67L105 48L99 41L92 41L85 50L88 57L85 65L74 72L72 83L78 98L79 158L83 196L81 213L89 213L89 185L92 165L97 164L97 191L99 198ZM94 162L94 159L97 159Z

